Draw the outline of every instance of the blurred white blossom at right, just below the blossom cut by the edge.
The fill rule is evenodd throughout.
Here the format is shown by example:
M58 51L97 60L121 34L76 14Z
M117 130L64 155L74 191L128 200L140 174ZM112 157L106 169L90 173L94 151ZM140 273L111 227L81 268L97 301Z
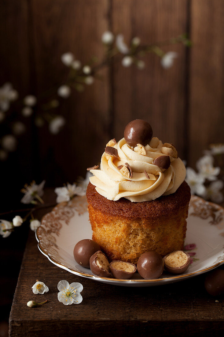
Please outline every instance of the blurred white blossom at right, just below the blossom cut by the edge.
M220 167L214 167L214 158L212 156L203 156L196 162L196 168L200 175L210 181L216 180L220 173Z

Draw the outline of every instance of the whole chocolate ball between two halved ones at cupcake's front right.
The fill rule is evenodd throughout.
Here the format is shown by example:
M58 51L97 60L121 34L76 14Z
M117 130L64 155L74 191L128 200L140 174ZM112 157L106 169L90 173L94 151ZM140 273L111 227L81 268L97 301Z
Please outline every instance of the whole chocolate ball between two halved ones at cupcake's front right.
M143 253L139 257L137 269L145 279L159 278L164 270L163 259L154 251Z

